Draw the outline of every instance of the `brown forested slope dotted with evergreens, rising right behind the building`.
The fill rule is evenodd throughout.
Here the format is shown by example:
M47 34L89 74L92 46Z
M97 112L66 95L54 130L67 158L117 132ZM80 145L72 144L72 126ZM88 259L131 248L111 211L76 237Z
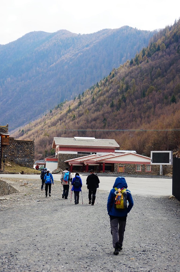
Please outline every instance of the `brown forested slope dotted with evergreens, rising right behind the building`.
M53 137L74 136L115 139L120 149L150 156L152 149L180 149L179 124L180 21L75 100L58 104L14 136L35 137L37 158L53 154Z

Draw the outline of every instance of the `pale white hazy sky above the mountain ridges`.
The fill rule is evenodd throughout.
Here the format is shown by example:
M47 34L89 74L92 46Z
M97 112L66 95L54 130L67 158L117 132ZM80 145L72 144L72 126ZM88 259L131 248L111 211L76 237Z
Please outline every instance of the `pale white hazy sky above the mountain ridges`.
M83 34L124 25L154 30L179 17L179 0L0 0L0 44L38 30Z

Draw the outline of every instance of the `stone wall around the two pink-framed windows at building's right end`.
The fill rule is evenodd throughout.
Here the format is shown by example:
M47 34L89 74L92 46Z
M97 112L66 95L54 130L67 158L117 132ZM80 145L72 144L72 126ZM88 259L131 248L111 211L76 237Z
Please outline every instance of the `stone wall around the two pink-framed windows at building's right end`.
M118 173L118 166L124 166L124 174L130 175L160 175L160 166L151 165L151 171L146 172L146 164L141 165L141 171L136 171L136 164L128 163L114 163L114 172Z

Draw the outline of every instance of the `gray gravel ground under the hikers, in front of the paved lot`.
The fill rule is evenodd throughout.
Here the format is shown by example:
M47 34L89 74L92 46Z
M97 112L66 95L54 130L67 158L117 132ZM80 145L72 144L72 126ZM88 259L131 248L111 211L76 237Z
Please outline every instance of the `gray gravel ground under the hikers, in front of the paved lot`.
M5 198L0 201L1 272L180 271L178 200L133 195L123 250L115 256L106 209L109 192L100 188L91 206L83 185L83 205L81 193L80 204L74 205L70 194L62 199L58 181L45 198L40 180L7 180L19 193L0 197Z

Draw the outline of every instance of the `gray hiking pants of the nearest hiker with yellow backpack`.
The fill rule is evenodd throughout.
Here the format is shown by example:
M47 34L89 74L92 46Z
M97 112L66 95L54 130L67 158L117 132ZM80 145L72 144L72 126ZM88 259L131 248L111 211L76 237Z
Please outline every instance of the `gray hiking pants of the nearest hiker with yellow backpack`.
M115 248L115 244L119 242L119 245L123 246L123 239L124 239L124 231L126 227L126 220L121 221L121 218L110 218L111 224L111 233L113 236L113 247Z

